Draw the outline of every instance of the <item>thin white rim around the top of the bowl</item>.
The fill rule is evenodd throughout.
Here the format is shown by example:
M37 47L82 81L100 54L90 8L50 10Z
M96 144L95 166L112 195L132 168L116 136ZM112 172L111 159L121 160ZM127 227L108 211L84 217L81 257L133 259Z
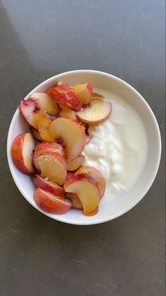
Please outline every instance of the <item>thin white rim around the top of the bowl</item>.
M75 220L70 220L70 221L66 221L65 219L65 215L59 215L58 217L51 217L49 213L41 210L39 207L35 207L30 200L28 200L28 198L25 196L25 194L23 193L23 190L20 186L20 184L18 183L18 180L15 176L15 173L14 173L14 169L13 169L13 163L12 163L12 159L11 159L11 130L13 128L13 124L15 122L15 119L19 113L19 110L18 108L16 109L15 113L13 114L13 118L11 119L11 123L10 123L10 126L9 126L9 129L8 129L8 137L7 137L7 146L6 146L6 149L7 149L7 159L8 159L8 166L9 166L9 169L11 171L11 176L13 178L13 181L16 183L16 186L18 187L18 190L20 191L20 193L23 195L23 197L28 200L28 203L30 203L33 207L35 207L36 210L42 212L42 214L46 215L47 217L50 217L54 220L57 220L59 222L64 222L64 223L67 223L67 224L76 224L76 225L91 225L91 224L100 224L100 223L103 223L103 222L108 222L108 221L111 221L111 220L114 220L115 218L121 216L121 215L124 215L126 212L129 212L129 210L131 210L135 205L137 205L142 199L143 197L146 195L146 193L148 193L148 190L150 189L150 187L152 186L154 180L155 180L155 177L158 173L158 169L159 169L159 166L160 166L160 158L161 158L161 151L162 151L162 142L161 142L161 136L160 136L160 128L158 126L158 121L156 120L155 118L155 115L153 113L153 110L150 108L150 106L148 105L148 103L146 102L146 100L143 98L143 96L141 96L141 93L138 93L138 91L136 91L136 89L134 89L133 86L131 86L130 84L128 84L126 81L124 81L123 79L120 79L119 77L117 76L114 76L112 74L109 74L107 72L102 72L102 71L97 71L97 70L90 70L90 69L78 69L78 70L71 70L71 71L67 71L67 72L63 72L61 74L57 74L57 75L54 75L52 77L49 77L48 79L46 79L45 81L42 81L40 84L38 84L37 86L35 86L34 89L32 89L32 91L30 91L30 93L32 93L33 91L35 91L36 88L40 87L40 86L44 86L46 83L48 83L49 81L52 81L54 79L60 79L61 76L64 76L65 74L81 74L81 73L94 73L94 74L102 74L103 76L107 76L109 78L112 78L112 79L115 79L117 81L119 81L119 83L123 84L124 86L127 86L129 89L131 89L131 91L134 91L136 93L136 95L141 99L141 101L143 101L143 103L145 104L146 108L148 109L148 112L150 113L150 115L152 116L153 118L153 123L155 125L155 128L156 128L156 131L158 133L158 157L156 159L156 162L155 162L155 169L153 171L153 173L151 174L151 177L147 183L147 186L146 188L144 188L141 192L141 194L139 195L139 198L137 200L135 200L134 203L130 203L129 206L126 206L124 208L124 210L122 211L119 211L117 212L116 215L113 215L113 217L106 217L106 218L99 218L97 221L88 221L87 222L79 222L79 221L75 221ZM28 98L28 96L30 96L30 93L28 93L27 96L25 96L25 99Z

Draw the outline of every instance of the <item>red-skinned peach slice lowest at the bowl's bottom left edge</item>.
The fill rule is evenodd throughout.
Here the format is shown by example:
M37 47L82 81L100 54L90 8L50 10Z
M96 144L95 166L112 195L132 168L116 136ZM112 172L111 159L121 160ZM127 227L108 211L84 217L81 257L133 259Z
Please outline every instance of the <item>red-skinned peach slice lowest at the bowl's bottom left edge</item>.
M40 209L52 214L65 214L71 208L71 200L67 198L59 198L52 193L37 188L33 193L35 203Z

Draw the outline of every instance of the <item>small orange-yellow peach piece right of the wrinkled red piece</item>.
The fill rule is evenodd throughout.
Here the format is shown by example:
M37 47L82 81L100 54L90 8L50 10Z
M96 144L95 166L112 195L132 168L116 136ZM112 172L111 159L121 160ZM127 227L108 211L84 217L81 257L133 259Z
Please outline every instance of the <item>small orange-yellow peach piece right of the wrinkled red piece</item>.
M81 98L83 105L90 103L90 98L93 93L93 86L88 82L88 84L76 84L73 86L73 89L78 93L78 96Z

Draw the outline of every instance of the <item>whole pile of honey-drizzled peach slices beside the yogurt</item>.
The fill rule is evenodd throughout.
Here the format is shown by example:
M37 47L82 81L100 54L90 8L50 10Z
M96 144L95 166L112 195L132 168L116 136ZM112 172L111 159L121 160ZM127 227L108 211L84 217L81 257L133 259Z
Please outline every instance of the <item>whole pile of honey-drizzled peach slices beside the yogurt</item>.
M105 179L81 154L91 139L90 125L109 117L111 103L93 93L90 83L68 86L60 81L47 93L32 93L19 110L30 132L16 137L11 154L16 167L32 174L33 198L40 209L64 214L71 207L95 215L105 193Z

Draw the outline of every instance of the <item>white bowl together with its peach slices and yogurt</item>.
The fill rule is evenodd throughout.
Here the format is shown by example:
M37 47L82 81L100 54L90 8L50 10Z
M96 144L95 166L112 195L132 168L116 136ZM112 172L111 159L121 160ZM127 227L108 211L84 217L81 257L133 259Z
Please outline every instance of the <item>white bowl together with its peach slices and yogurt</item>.
M96 224L146 194L158 171L160 132L129 84L79 70L44 81L20 102L7 148L13 179L37 210Z

